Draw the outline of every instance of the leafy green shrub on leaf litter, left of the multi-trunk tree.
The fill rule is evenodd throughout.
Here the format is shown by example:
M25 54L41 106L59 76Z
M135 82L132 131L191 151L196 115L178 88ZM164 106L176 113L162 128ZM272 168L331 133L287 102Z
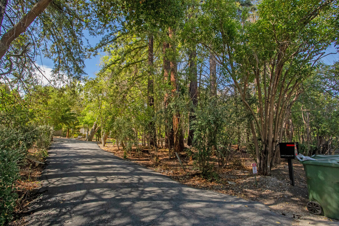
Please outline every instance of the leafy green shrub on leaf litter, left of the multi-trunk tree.
M211 175L210 159L215 152L219 166L227 163L236 126L236 109L227 101L205 97L204 108L196 109L193 121L197 166L205 178Z

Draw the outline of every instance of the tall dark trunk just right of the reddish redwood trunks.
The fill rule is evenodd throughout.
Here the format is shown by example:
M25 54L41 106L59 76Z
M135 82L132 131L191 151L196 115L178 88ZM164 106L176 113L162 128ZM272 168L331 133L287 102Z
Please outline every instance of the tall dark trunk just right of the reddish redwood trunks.
M190 112L188 113L188 138L187 145L192 146L194 129L192 128L192 122L195 120L194 109L198 105L198 81L197 81L197 65L195 63L195 58L197 57L197 50L189 50L188 53L188 74L190 79L190 85L188 87L188 92L190 94L190 99L192 105L190 105Z

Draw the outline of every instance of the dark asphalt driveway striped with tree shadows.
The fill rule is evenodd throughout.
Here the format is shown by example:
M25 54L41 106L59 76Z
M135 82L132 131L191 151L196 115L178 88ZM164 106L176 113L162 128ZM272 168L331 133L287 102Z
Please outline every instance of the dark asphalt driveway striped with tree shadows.
M96 143L55 139L28 225L293 225L259 202L196 189Z

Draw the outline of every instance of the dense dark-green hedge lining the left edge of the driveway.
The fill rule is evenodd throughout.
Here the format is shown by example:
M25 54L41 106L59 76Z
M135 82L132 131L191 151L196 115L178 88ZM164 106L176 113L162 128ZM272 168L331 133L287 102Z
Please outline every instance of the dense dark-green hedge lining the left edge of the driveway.
M41 149L39 155L47 156L53 128L26 126L18 130L0 126L0 225L12 219L17 201L14 183L20 179L20 165L26 159L27 150L35 143Z

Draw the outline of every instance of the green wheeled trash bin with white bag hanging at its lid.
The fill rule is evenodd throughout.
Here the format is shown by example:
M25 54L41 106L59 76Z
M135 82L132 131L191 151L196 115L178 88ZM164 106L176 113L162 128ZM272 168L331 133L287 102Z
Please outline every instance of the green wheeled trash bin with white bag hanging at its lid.
M313 214L324 214L339 220L339 155L312 156L304 166L307 179L307 209Z

